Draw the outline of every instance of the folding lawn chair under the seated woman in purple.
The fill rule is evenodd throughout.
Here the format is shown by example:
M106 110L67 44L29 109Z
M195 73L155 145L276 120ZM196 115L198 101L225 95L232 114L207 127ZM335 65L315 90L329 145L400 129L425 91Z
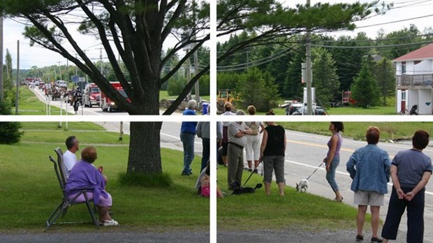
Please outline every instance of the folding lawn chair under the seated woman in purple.
M83 203L85 203L87 206L87 209L89 209L89 214L91 216L91 220L93 221L95 227L97 229L99 229L99 224L98 224L98 221L96 220L94 210L92 209L92 207L90 205L91 203L93 203L93 199L89 199L87 197L87 193L86 193L87 191L93 191L93 189L91 189L91 188L76 189L76 191L78 192L77 195L74 196L73 198L71 198L71 200L68 200L68 198L66 197L66 191L65 191L66 175L64 172L63 152L61 152L60 148L54 149L54 152L56 152L56 154L57 154L57 161L52 159L52 156L48 156L48 157L50 158L50 161L54 164L54 171L56 172L57 180L59 181L59 185L60 185L60 189L61 189L61 193L63 195L63 198L61 199L59 206L54 210L54 212L52 212L50 218L47 219L47 221L46 221L47 227L45 228L45 231L55 223L55 221L60 216L60 214L62 217L64 217L66 215L66 212L68 212L69 206L83 204ZM75 200L81 195L85 196L85 202L75 202ZM74 223L74 222L68 222L68 223Z

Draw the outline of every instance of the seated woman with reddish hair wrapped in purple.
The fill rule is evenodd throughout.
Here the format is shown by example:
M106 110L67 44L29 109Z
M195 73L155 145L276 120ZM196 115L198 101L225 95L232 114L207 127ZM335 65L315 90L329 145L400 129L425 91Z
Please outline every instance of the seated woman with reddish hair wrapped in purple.
M98 207L100 223L103 226L117 226L119 223L108 214L112 205L111 195L105 191L105 180L101 172L92 165L98 158L94 147L85 147L81 152L81 161L75 163L66 182L66 195L68 200L77 195L74 189L92 188L93 192L87 192L87 198L93 198L94 205ZM84 202L84 194L78 196L75 202Z

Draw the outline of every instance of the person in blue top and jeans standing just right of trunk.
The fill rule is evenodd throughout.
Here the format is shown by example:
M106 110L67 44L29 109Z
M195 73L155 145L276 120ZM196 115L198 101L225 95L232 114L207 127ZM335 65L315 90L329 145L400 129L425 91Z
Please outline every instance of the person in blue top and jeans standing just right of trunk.
M197 102L188 101L188 108L182 115L196 115ZM183 121L180 127L180 140L184 146L184 170L182 175L191 175L191 163L194 159L194 138L196 137L197 121Z

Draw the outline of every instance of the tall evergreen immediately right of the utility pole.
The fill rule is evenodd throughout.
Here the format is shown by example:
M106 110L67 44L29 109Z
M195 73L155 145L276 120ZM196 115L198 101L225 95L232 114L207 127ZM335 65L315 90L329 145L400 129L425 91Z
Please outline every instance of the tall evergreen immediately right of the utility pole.
M313 59L313 87L316 87L316 102L328 107L330 101L339 91L339 80L335 61L328 50L314 48L311 50Z

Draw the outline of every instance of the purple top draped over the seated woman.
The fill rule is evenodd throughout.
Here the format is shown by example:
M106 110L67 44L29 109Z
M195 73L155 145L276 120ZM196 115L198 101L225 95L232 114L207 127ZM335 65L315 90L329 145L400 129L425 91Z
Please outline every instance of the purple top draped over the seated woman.
M105 182L101 172L94 165L91 165L91 163L78 161L72 168L66 181L66 196L78 193L78 191L73 191L74 189L83 188L93 189L93 201L95 205L99 203L99 196L108 198L108 193L104 190Z

